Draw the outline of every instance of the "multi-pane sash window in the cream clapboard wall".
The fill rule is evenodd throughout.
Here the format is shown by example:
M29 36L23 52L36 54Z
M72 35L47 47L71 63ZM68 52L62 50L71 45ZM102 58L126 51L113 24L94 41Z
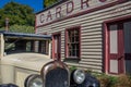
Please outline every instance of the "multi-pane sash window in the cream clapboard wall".
M66 57L80 58L80 27L66 30Z

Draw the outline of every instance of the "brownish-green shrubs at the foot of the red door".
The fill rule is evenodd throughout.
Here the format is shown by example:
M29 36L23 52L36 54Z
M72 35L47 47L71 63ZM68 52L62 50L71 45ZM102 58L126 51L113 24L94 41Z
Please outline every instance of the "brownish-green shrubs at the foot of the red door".
M130 75L111 76L106 74L95 75L100 83L100 87L131 87Z

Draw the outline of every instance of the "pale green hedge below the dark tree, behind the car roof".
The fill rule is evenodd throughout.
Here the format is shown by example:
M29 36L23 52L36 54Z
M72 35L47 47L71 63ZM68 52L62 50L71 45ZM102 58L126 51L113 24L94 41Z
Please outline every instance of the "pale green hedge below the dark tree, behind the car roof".
M4 27L0 28L0 30L4 30ZM12 25L9 28L10 32L15 33L31 33L34 34L34 27L27 25Z

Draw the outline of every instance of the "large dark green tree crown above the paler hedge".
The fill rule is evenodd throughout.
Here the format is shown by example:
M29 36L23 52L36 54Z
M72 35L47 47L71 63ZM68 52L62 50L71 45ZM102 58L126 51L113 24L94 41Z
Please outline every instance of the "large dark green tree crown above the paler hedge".
M35 22L32 8L13 1L0 9L0 27L4 27L7 17L10 26L14 24L34 26Z

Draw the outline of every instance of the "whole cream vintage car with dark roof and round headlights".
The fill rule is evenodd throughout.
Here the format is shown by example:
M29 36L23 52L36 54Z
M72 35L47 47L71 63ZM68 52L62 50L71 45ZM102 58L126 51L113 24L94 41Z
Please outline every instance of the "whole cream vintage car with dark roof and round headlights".
M51 37L0 33L0 87L99 87L83 70L50 59Z

